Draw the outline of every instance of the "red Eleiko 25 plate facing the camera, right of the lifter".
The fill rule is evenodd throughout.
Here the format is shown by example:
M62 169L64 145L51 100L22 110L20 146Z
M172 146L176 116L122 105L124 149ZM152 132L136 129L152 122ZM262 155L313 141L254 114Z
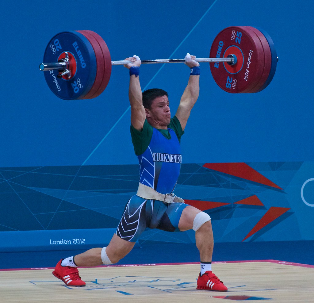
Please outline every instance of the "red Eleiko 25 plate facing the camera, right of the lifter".
M228 57L235 52L235 65L210 63L210 70L221 89L228 93L246 93L255 87L263 72L263 46L252 30L227 27L214 39L209 57Z

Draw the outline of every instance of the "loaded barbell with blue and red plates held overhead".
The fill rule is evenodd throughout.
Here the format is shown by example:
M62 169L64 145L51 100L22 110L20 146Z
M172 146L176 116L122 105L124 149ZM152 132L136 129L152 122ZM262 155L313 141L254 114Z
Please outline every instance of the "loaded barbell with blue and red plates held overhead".
M273 40L262 29L230 26L220 31L210 48L209 62L218 86L228 93L257 93L273 79L278 57ZM106 88L113 65L106 42L91 30L64 31L47 44L39 69L57 97L64 100L91 99ZM145 63L180 63L185 59L142 60Z

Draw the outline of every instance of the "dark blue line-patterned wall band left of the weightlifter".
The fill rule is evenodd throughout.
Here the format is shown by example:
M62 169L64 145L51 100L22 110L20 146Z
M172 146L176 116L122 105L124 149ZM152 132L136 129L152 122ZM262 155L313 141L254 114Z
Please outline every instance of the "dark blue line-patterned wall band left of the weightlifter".
M135 165L0 169L0 230L116 227L137 179Z

